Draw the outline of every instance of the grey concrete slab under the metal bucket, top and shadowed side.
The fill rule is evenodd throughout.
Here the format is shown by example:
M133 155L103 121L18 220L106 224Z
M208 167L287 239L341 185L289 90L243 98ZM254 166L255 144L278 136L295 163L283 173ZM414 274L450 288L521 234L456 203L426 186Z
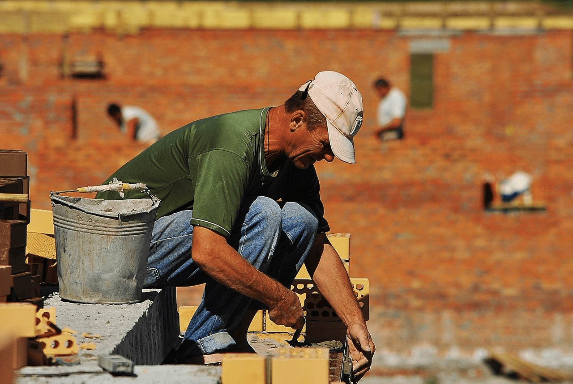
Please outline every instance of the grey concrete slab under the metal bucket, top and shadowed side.
M54 292L44 307L56 308L58 327L78 332L73 336L81 364L103 354L122 355L136 365L161 364L178 342L175 288L143 290L141 302L135 304L72 303ZM95 343L96 348L83 350L83 343Z

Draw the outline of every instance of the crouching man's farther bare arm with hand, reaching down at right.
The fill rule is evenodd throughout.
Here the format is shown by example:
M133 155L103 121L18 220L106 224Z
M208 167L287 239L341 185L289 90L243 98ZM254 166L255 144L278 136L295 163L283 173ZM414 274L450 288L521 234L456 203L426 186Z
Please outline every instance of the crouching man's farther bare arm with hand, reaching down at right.
M316 287L347 327L352 370L355 381L358 381L370 369L376 347L366 327L346 269L324 233L317 235L305 264Z

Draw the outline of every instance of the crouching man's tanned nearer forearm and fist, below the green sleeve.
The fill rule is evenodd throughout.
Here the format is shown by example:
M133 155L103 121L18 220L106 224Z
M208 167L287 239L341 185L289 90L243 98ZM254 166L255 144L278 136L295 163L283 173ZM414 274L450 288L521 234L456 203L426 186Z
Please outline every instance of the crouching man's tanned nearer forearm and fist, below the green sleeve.
M219 233L195 226L191 255L199 268L218 283L266 304L273 322L303 327L303 309L298 296L258 271Z

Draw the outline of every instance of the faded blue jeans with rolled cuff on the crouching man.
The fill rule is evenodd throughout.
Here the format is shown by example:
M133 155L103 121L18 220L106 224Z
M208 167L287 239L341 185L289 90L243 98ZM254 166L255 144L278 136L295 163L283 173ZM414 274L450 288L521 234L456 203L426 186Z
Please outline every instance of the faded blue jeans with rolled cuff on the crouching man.
M155 221L145 282L146 288L205 283L201 304L179 347L179 361L235 345L230 332L253 301L217 283L195 264L191 255L193 227L189 224L192 215L192 211L180 211ZM242 204L228 242L259 271L290 288L317 228L315 214L305 205L258 196Z

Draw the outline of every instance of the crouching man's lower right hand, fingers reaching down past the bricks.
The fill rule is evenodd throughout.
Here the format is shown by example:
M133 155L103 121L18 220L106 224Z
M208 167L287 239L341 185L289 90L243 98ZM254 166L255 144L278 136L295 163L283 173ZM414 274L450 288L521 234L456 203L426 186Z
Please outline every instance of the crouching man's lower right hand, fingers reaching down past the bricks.
M370 370L376 347L366 324L351 324L347 329L348 347L352 358L352 381L358 382Z

